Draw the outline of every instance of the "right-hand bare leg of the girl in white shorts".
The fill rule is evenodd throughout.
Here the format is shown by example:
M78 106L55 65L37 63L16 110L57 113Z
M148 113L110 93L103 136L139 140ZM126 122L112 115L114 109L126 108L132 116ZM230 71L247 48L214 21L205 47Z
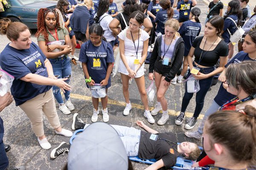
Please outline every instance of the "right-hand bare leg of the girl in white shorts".
M144 75L142 77L134 78L135 82L137 84L137 87L140 92L140 99L143 102L143 105L145 107L145 110L148 111L148 96L145 91L145 78Z

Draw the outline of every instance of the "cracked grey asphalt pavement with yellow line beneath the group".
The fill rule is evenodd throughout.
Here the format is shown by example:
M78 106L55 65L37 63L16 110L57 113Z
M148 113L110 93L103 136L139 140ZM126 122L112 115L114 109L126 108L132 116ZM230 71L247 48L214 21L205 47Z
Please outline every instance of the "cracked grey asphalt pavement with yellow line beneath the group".
M119 9L121 9L121 1L115 1L118 4ZM197 6L201 9L201 15L199 19L201 20L202 30L201 34L204 32L204 21L206 13L208 10L208 4L203 0L198 0ZM224 6L224 8L227 8ZM35 31L32 30L32 41L37 43L35 38ZM0 35L0 51L5 48L9 43L9 40L5 35ZM237 47L235 48L235 54L237 53ZM79 56L79 49L76 49L75 55ZM88 88L86 88L84 74L80 68L80 63L78 65L72 65L72 78L70 85L72 86L71 91L71 101L75 106L75 110L71 112L70 115L64 115L58 110L58 103L56 102L57 113L61 122L61 126L65 129L71 130L72 117L74 113L79 113L79 117L85 123L92 123L91 116L93 114L93 105L91 101L91 94ZM145 65L145 86L148 88L151 81L148 79L148 65ZM207 93L205 98L204 108L198 119L198 123L193 130L197 130L201 123L201 119L204 113L207 111L211 105L213 98L218 92L220 82L213 86L211 90ZM132 109L128 116L123 116L122 111L125 108L125 100L122 94L122 84L120 82L120 75L111 79L111 88L108 89L108 111L110 114L110 119L108 124L113 125L123 125L128 127L135 127L141 129L136 125L136 120L142 120L149 127L159 131L159 132L173 132L177 136L178 142L195 142L198 146L202 146L201 141L187 138L184 135L186 131L183 125L175 125L175 117L179 114L181 108L182 97L185 91L184 84L170 85L168 91L166 92L166 99L168 101L169 109L169 121L166 125L149 124L145 117L143 116L144 108L143 103L140 99L140 94L137 89L135 81L132 81L129 86L130 100ZM149 102L150 110L153 109L155 102ZM100 106L101 107L101 106ZM195 95L191 99L186 112L186 119L192 116L195 109ZM61 170L67 162L67 154L60 155L56 159L50 159L51 150L57 147L61 142L69 142L70 138L59 136L55 133L54 129L49 125L46 117L44 116L44 131L47 136L48 141L51 143L52 148L49 150L43 150L38 141L37 137L33 133L30 121L26 114L19 108L15 106L15 102L5 108L0 116L3 119L5 133L3 141L5 144L11 145L12 149L7 153L10 164L9 168L14 168L17 166L26 166L27 170ZM161 113L157 116L153 116L154 119L159 120ZM102 121L102 113L100 111L98 121ZM190 130L192 131L192 130ZM133 162L132 163L135 170L142 170L148 167L148 164Z

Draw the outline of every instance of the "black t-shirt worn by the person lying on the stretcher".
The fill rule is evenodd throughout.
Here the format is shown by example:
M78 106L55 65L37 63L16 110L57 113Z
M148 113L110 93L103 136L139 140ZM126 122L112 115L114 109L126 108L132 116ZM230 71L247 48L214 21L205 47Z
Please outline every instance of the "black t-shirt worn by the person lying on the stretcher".
M141 131L140 145L139 145L139 158L140 159L156 159L157 161L163 159L166 168L173 167L176 164L176 159L179 156L177 153L177 144L172 144L162 139L177 143L176 136L173 133L156 133L157 139L151 138L152 133ZM154 136L154 134L153 134Z

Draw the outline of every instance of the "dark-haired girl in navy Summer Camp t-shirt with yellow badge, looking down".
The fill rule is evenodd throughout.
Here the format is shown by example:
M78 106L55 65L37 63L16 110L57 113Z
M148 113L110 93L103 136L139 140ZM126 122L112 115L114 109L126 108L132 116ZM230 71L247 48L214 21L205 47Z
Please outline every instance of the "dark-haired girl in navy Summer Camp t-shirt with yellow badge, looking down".
M102 40L103 28L98 24L93 24L89 28L90 40L81 46L79 61L82 62L86 86L102 84L106 86L106 93L111 86L111 71L113 68L114 56L110 43ZM98 120L99 98L92 97L93 116L92 122ZM103 121L108 122L108 96L101 98Z

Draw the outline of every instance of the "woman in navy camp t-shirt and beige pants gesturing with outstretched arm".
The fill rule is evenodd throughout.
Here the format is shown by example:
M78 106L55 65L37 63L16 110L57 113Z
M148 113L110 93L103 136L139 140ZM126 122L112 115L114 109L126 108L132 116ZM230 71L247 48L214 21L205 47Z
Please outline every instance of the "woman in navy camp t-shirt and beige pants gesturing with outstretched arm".
M51 90L52 85L63 91L71 90L71 86L63 81L67 79L56 79L51 63L31 41L31 31L25 24L6 19L0 25L1 33L11 40L0 54L0 66L15 78L11 87L15 104L26 113L40 146L47 150L51 144L44 135L43 113L57 134L73 134L61 128Z

